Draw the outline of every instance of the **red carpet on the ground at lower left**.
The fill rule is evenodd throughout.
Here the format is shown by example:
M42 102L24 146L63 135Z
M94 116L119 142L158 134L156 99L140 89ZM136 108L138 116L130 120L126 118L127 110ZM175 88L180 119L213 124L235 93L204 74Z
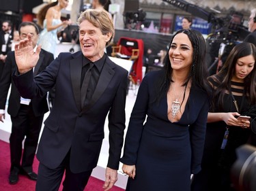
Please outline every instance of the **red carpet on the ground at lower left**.
M10 173L10 148L9 143L0 140L0 190L1 191L34 191L35 181L32 181L24 175L19 175L19 181L17 184L10 185L8 182L8 176ZM38 160L35 158L33 162L33 170L38 172ZM104 182L95 177L90 177L85 191L102 191ZM62 190L62 185L59 190ZM114 186L111 191L124 191L124 189Z

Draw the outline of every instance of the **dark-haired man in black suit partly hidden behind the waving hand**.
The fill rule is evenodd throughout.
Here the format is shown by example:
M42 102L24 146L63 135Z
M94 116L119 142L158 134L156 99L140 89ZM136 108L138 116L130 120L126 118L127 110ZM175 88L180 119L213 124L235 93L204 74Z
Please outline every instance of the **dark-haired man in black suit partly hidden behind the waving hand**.
M25 39L30 34L32 46L36 48L39 30L33 22L22 22L18 31L20 39ZM40 59L33 68L33 75L38 75L42 70L46 69L54 59L53 54L45 50L40 52L39 57ZM32 164L35 150L38 146L38 137L44 114L48 111L46 95L31 100L20 97L20 93L12 81L12 73L15 69L14 52L9 52L0 80L0 121L3 122L5 118L5 103L10 84L12 84L8 103L8 114L10 114L12 120L12 133L10 135L10 184L17 183L18 173L25 173L33 180L37 179L37 175L33 172ZM22 152L23 139L25 139L25 143L24 151ZM21 165L20 160L22 160Z

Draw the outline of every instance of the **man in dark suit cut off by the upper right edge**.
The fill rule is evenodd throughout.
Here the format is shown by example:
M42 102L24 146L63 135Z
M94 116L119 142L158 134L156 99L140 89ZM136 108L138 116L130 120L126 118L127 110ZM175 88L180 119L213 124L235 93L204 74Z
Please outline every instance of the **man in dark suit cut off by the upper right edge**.
M256 46L256 9L251 10L251 15L248 20L248 31L251 33L246 36L244 42L250 42Z

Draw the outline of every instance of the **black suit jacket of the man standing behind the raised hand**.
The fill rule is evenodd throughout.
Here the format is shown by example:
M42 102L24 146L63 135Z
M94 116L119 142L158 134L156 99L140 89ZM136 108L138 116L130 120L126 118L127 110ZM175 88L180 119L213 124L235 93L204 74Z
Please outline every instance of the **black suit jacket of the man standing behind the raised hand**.
M46 67L50 65L53 59L53 54L42 50L40 52L40 59L34 68L34 75L38 75L38 73L46 69ZM18 114L18 110L20 109L20 93L12 81L12 73L14 73L15 69L16 61L14 52L9 52L8 56L6 57L5 67L3 68L3 73L0 80L0 109L5 109L8 90L10 88L10 84L12 84L8 102L8 114L14 117ZM48 111L46 95L41 98L32 99L31 105L33 107L35 116L41 116Z

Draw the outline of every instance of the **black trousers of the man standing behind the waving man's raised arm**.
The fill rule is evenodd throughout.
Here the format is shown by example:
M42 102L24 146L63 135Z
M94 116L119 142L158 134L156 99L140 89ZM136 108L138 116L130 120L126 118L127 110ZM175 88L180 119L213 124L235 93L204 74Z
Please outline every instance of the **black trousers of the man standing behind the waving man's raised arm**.
M11 169L23 167L31 172L35 151L38 146L38 138L44 115L35 116L31 105L20 105L18 115L12 120L12 133L10 135ZM25 138L26 137L26 138ZM23 150L23 140L24 150ZM23 152L22 152L23 150ZM22 156L22 162L20 160Z

